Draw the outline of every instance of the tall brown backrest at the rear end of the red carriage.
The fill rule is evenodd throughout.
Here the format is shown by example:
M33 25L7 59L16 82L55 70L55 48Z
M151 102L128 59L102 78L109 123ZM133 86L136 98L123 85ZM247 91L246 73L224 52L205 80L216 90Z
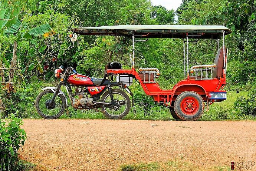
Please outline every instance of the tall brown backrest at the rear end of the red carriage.
M225 48L226 51L226 48ZM214 64L216 67L213 68L213 78L222 77L223 74L223 47L217 52Z

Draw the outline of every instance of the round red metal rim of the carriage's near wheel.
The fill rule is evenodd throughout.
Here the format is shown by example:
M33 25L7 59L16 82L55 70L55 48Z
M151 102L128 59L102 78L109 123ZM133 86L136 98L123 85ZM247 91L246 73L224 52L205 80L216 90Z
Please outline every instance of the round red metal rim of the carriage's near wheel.
M181 101L181 111L186 115L194 115L199 108L198 100L194 97L186 97Z

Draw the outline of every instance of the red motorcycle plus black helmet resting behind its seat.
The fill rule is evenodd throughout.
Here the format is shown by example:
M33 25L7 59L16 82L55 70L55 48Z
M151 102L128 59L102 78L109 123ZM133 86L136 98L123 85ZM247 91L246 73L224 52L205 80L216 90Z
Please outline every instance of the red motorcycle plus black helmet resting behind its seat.
M121 69L118 62L109 63L107 69ZM46 87L37 95L35 101L36 111L45 119L59 118L65 111L68 101L60 90L65 86L73 108L94 109L101 111L107 118L116 119L125 117L131 109L132 93L122 82L111 82L109 77L102 79L90 78L78 74L73 67L64 69L60 66L55 70L55 77L60 78L58 87ZM117 88L112 88L112 87ZM73 91L74 90L74 91Z

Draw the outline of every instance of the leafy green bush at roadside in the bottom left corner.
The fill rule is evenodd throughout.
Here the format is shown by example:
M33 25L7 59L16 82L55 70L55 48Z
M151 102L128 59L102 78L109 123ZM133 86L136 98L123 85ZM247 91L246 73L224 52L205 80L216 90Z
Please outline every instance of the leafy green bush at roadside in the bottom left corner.
M0 166L3 171L13 170L18 161L17 151L27 138L21 125L22 119L15 114L0 120Z

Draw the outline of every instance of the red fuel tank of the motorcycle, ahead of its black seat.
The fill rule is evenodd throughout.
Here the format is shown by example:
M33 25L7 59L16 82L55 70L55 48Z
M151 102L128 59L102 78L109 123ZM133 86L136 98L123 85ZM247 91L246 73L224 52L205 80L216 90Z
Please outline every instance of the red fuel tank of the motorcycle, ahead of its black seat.
M75 86L93 85L91 78L82 74L71 74L67 81Z

